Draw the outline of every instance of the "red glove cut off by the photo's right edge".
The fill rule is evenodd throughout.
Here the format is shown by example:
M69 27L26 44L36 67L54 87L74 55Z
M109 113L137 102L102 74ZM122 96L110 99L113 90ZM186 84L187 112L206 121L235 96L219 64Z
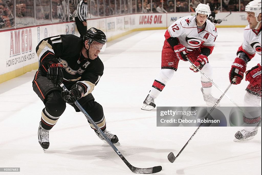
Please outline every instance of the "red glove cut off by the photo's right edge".
M253 86L260 84L261 86L261 63L246 72L245 81L249 81Z

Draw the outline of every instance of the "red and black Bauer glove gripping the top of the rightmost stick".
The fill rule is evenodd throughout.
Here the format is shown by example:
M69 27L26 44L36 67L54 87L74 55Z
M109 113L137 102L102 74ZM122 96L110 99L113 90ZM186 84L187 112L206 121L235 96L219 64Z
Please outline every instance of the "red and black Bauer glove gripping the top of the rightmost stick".
M233 78L237 78L233 84L239 84L244 77L247 64L240 58L236 58L232 63L231 70L229 72L229 80L232 82Z

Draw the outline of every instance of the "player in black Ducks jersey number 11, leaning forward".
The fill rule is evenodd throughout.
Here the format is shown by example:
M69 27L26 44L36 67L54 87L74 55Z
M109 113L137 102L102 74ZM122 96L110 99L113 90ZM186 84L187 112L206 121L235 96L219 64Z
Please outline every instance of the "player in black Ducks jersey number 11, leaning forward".
M90 28L84 38L75 35L52 36L40 41L36 53L40 66L33 80L33 89L45 104L38 129L38 141L43 149L49 147L49 131L63 114L66 103L74 104L74 99L88 112L99 128L115 145L120 145L116 135L106 130L106 120L102 106L95 102L91 92L103 75L104 65L98 54L106 47L103 31ZM59 83L70 89L64 92ZM103 141L101 134L96 135Z

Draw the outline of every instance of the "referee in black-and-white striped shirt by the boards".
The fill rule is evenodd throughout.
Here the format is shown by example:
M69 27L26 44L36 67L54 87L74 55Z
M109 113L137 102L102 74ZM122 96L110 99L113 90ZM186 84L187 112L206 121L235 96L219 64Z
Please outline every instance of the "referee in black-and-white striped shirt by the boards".
M88 8L87 8L87 0L81 0L77 4L77 13L75 14L75 24L77 25L77 30L80 33L80 38L83 38L86 30L87 24L86 20L88 18Z

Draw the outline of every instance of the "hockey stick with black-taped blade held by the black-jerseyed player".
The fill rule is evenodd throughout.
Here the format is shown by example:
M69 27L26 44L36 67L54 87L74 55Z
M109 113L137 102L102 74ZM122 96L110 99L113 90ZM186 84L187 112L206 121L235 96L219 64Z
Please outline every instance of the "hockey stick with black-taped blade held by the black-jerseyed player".
M60 84L61 88L63 88L63 91L68 91L67 88L64 86L63 83ZM157 173L162 170L161 166L151 167L151 168L137 168L132 166L121 154L120 151L113 145L113 143L107 138L107 136L103 133L103 131L97 126L97 124L94 122L94 120L88 115L88 113L85 111L85 109L78 103L77 100L74 100L75 105L80 109L80 111L85 115L85 117L90 121L90 123L96 128L96 130L103 136L103 138L107 141L107 143L113 148L113 150L117 153L117 155L125 162L125 164L128 166L128 168L133 172L137 174L151 174L151 173Z

